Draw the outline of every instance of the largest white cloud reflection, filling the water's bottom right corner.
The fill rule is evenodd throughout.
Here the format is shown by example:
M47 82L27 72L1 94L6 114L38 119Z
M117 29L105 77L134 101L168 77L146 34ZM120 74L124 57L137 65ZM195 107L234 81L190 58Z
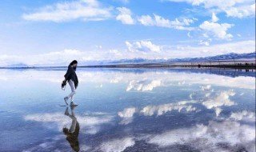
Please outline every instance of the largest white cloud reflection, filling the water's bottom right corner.
M241 147L245 147L247 151L254 151L255 126L230 120L210 121L208 125L151 135L148 142L160 147L187 145L200 151L236 151ZM226 145L226 148L223 149L221 144Z

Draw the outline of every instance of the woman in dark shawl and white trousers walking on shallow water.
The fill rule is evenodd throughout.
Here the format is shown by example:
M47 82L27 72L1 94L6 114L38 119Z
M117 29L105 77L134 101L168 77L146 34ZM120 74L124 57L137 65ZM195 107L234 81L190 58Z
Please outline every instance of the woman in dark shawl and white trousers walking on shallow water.
M75 70L77 69L78 62L74 60L73 62L70 62L70 65L68 67L68 70L66 71L66 74L64 75L65 79L63 82L68 81L71 88L71 93L64 98L64 101L66 102L66 105L68 105L68 100L71 98L70 106L78 106L76 103L74 103L74 94L75 90L78 87L78 77L77 74L75 74Z

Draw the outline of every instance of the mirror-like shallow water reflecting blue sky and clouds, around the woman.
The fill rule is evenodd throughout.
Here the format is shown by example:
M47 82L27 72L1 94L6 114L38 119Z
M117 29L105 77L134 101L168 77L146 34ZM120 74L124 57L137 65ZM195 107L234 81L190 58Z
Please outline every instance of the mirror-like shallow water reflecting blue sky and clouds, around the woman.
M255 151L255 72L0 70L0 151Z

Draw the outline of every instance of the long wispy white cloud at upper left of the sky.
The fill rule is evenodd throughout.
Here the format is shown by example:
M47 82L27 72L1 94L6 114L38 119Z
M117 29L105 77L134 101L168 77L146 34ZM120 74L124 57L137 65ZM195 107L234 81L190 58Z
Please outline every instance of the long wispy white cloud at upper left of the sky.
M97 0L78 0L44 6L35 13L23 14L22 18L50 22L69 22L78 19L100 21L111 17L110 10L112 9L103 7Z

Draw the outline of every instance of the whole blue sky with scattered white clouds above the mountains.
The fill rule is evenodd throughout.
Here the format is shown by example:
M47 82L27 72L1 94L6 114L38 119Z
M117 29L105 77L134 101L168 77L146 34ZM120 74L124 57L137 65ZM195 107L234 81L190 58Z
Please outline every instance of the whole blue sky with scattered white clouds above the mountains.
M254 0L1 0L0 65L255 51Z

